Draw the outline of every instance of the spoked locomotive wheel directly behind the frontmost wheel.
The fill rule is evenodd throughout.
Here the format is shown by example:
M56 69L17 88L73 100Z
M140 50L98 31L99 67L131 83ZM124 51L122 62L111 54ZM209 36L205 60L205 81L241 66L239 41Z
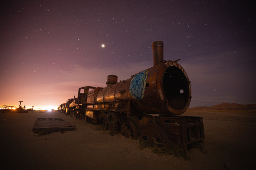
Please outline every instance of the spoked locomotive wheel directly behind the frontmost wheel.
M128 120L121 127L121 134L130 139L138 139L138 131L135 124Z

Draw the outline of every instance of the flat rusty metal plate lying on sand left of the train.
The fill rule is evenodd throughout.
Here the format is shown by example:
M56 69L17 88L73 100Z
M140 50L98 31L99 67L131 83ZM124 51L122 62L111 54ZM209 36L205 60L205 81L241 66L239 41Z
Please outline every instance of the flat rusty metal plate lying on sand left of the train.
M32 131L39 132L42 130L47 130L49 133L51 133L51 131L66 131L74 129L75 126L72 126L60 118L38 118L35 121Z

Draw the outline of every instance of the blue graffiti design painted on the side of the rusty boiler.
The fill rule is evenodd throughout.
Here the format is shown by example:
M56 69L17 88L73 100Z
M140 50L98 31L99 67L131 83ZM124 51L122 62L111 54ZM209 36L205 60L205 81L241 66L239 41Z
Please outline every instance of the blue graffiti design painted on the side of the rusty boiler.
M133 77L131 83L130 83L130 94L132 97L134 97L137 100L140 100L144 96L144 91L145 91L145 80L147 78L148 70L142 71L136 76Z

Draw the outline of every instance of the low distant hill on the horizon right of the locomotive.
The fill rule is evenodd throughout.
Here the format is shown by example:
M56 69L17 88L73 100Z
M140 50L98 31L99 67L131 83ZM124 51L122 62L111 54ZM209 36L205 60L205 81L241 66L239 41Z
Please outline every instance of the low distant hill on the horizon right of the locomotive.
M222 103L210 107L192 107L189 110L256 110L256 104Z

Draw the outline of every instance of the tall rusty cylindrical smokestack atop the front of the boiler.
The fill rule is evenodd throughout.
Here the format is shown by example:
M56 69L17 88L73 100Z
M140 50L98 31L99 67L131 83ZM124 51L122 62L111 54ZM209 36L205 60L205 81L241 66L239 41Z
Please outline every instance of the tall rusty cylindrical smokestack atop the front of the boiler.
M163 41L155 41L152 43L153 63L154 66L160 64L163 60Z

